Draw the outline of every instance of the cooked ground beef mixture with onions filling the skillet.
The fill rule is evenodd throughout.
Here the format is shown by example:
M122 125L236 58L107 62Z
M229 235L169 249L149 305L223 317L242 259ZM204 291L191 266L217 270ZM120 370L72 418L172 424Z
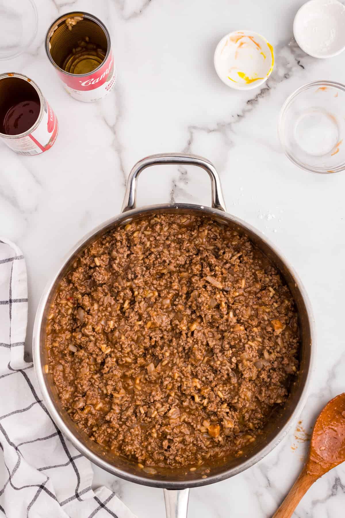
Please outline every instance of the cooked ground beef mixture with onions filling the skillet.
M299 332L286 283L246 235L157 214L74 262L47 346L46 371L92 440L148 472L193 471L262 434L296 376Z

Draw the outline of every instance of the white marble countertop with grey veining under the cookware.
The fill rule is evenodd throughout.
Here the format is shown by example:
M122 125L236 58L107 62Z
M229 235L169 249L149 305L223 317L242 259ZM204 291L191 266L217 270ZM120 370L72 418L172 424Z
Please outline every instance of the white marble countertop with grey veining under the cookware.
M277 118L284 99L318 79L345 82L344 55L306 56L292 40L303 0L36 0L34 44L0 72L32 77L59 120L53 148L23 157L0 143L0 233L22 249L28 269L31 349L34 315L48 277L69 248L120 211L126 177L145 155L187 151L217 167L227 209L264 232L294 265L316 318L316 369L302 426L310 431L328 399L342 392L345 369L345 176L313 175L284 156ZM71 9L94 13L109 27L118 83L96 104L69 98L43 49L48 25ZM227 88L213 52L226 33L250 28L275 47L276 65L263 87ZM167 200L209 204L209 180L199 170L145 171L138 204ZM332 266L329 268L329 262ZM189 516L272 516L289 490L308 447L295 430L260 463L218 484L191 490ZM117 479L95 467L140 518L164 515L160 490ZM309 490L294 517L337 518L345 508L345 466Z

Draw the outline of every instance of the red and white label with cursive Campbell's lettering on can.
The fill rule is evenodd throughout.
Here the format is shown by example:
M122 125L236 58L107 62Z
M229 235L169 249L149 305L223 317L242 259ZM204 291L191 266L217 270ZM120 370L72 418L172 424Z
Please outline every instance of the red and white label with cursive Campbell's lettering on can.
M93 102L105 97L114 87L117 79L113 53L101 67L88 76L64 74L57 70L60 79L65 83L65 90L74 98L84 102Z

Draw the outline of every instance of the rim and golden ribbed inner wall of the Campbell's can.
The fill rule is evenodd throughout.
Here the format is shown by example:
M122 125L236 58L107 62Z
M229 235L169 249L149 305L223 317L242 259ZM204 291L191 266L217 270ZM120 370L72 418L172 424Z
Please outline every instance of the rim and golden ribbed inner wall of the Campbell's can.
M67 23L68 20L74 20L76 23L72 25ZM73 52L73 49L78 48L78 41L86 36L105 51L104 62L110 52L110 37L106 26L98 18L88 13L69 12L55 20L46 35L46 52L51 63L64 74L80 77L89 75L90 72L71 74L63 68L66 57ZM100 66L101 64L93 71Z

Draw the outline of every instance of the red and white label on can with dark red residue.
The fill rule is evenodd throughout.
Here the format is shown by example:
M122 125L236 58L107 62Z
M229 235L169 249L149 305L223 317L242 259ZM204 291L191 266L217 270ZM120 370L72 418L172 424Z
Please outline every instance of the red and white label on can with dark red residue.
M46 99L43 99L43 102L43 117L31 133L18 138L0 137L16 153L39 155L53 146L57 137L58 122Z

